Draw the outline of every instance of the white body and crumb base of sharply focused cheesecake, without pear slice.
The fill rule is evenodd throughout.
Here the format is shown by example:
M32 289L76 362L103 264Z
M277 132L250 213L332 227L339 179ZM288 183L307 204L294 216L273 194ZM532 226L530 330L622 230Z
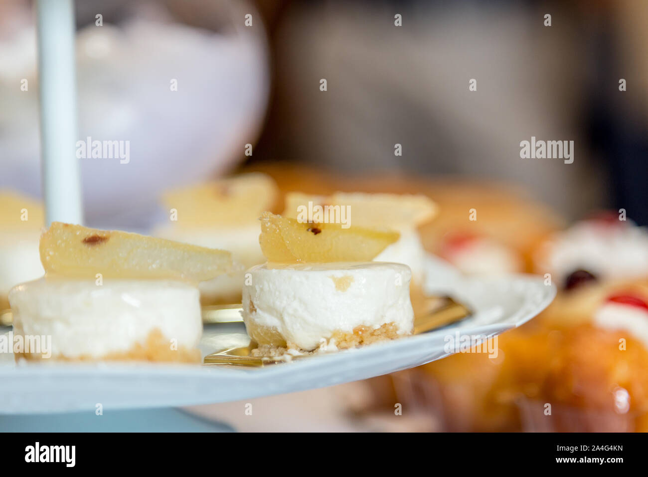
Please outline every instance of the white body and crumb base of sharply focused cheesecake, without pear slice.
M350 347L412 332L406 265L266 263L248 273L242 314L259 345Z

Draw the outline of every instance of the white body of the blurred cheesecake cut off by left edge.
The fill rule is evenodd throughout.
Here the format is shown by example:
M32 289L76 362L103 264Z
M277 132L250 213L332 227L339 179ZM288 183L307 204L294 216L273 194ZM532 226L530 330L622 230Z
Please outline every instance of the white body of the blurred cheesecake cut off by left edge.
M10 231L0 234L0 308L12 287L43 275L38 254L38 230Z

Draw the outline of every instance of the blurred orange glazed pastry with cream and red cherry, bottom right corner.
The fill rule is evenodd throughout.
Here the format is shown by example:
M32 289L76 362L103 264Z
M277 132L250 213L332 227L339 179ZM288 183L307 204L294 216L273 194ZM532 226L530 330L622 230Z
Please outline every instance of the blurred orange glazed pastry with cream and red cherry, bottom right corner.
M508 362L494 387L516 397L525 430L647 430L648 282L584 291L586 307L552 304L550 320L500 338Z

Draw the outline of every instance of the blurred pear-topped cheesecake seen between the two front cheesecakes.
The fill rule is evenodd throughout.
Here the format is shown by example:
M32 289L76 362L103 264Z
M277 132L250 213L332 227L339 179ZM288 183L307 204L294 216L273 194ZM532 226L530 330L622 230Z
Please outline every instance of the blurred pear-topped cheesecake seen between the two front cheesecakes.
M232 270L200 284L202 304L238 303L246 269L264 263L259 217L273 210L277 186L261 173L196 184L163 196L169 222L154 235L201 247L230 251Z

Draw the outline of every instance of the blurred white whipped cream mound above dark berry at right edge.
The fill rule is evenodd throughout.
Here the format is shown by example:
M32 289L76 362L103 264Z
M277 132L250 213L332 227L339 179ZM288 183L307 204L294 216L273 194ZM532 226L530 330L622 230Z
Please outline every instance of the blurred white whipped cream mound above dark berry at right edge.
M581 221L554 236L541 256L540 271L561 282L579 269L599 278L646 276L648 231L630 221Z

